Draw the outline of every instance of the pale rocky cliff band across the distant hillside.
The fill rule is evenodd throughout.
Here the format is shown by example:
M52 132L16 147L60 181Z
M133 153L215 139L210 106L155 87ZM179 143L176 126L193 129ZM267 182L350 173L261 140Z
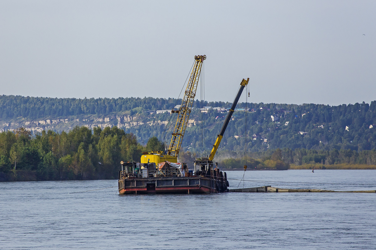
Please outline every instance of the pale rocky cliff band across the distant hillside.
M150 120L150 121L147 121ZM18 117L12 120L0 120L0 132L6 130L14 130L18 127L25 127L32 133L42 132L42 130L53 130L56 132L69 131L75 126L85 126L88 128L101 127L113 127L117 126L121 129L127 129L130 127L137 127L143 125L156 126L166 125L168 121L160 121L156 119L141 118L138 115L123 115L123 114L111 114L107 116L99 115L79 115L74 117L61 117L59 119L51 119L46 117L45 119L30 120L23 117ZM188 127L194 126L198 123L196 120L189 120Z

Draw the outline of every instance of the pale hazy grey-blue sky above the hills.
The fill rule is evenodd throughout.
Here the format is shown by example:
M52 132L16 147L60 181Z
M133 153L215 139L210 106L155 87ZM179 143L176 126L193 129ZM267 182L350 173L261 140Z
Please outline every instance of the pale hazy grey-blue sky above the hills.
M376 1L0 0L0 94L177 98L205 54L208 101L232 102L249 77L249 102L370 103L375 13Z

